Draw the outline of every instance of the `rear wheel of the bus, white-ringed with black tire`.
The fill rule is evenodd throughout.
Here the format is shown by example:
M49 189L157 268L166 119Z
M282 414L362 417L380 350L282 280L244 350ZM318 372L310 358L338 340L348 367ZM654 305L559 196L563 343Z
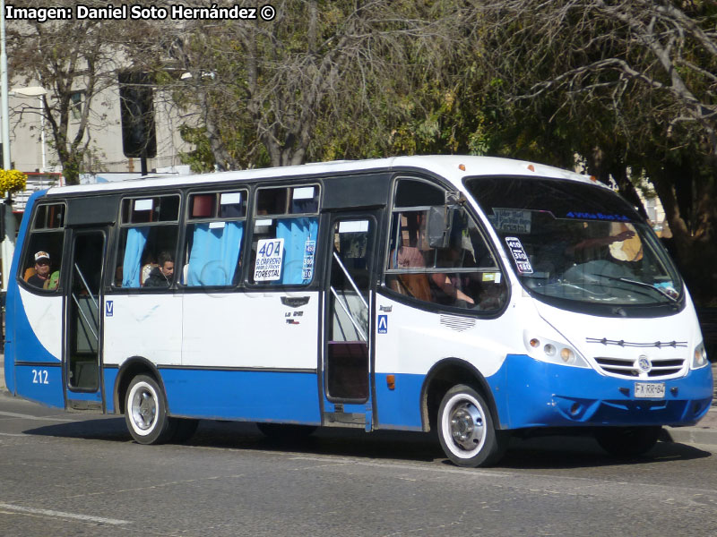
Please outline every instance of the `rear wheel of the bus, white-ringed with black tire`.
M125 394L125 422L139 444L162 444L172 438L176 422L167 415L167 402L155 379L132 379Z

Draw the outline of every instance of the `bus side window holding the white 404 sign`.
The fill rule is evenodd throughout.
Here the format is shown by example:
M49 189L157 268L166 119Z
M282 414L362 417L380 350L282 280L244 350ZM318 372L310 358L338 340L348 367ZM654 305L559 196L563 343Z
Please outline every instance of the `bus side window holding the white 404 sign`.
M250 282L311 283L318 234L318 185L259 189L255 207Z

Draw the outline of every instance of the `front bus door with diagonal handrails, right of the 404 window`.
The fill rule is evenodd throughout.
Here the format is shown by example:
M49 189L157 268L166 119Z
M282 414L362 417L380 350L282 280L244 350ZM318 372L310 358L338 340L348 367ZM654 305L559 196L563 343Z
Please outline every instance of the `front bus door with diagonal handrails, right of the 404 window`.
M335 215L324 296L324 425L372 423L371 363L378 211Z

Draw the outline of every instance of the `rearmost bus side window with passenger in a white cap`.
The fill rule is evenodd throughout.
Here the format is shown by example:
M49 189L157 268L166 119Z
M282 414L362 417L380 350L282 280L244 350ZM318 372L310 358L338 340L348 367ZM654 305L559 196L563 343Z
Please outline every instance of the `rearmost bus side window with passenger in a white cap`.
M65 244L65 204L40 205L30 228L30 241L18 277L41 291L59 287Z

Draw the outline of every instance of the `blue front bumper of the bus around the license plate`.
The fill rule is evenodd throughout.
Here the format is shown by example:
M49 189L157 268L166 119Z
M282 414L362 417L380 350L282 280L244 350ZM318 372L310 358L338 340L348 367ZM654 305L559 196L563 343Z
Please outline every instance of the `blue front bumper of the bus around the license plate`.
M488 379L501 429L603 425L694 425L709 410L712 368L665 383L663 399L635 398L635 380L509 354ZM644 381L639 379L638 381Z

